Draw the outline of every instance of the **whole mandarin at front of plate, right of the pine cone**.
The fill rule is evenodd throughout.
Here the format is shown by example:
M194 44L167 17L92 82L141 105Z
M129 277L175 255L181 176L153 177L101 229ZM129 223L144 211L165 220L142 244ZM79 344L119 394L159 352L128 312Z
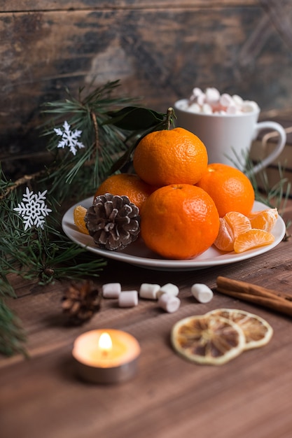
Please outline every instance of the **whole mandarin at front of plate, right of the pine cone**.
M146 199L141 211L141 237L162 257L182 260L207 250L218 234L214 201L190 184L165 185Z

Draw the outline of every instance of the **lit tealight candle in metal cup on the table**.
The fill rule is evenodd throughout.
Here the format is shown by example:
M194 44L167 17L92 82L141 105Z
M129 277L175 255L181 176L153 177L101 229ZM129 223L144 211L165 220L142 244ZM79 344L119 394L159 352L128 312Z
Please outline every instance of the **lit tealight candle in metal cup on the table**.
M79 376L93 383L126 381L137 372L140 346L120 330L91 330L74 342L72 355Z

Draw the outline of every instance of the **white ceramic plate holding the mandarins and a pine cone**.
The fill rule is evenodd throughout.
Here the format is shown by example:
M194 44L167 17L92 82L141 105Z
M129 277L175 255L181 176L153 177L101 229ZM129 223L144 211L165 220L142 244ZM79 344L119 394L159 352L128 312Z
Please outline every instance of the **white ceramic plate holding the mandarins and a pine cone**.
M207 267L217 266L221 264L230 264L235 262L241 262L242 260L250 259L270 251L272 248L278 245L284 237L286 227L284 220L278 218L272 234L274 234L274 242L267 246L261 246L253 250L247 250L244 253L222 253L221 251L211 246L201 255L188 260L167 260L153 253L148 249L141 239L137 239L134 243L131 243L124 250L110 251L97 248L91 236L83 234L78 231L78 228L74 224L73 212L77 205L82 205L88 209L92 205L92 197L85 199L78 204L74 205L64 214L62 219L62 228L64 233L67 234L69 239L78 243L79 245L87 248L92 253L95 253L102 257L107 257L113 260L119 260L120 262L134 264L136 266L159 269L163 271L192 271L195 269L203 269ZM265 204L255 202L253 211L267 209Z

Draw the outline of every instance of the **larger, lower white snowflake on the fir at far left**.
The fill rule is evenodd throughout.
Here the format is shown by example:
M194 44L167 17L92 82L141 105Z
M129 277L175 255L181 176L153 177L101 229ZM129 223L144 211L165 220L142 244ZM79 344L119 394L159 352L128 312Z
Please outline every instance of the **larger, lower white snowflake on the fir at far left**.
M37 228L43 228L45 218L50 213L50 209L46 206L46 192L39 192L38 194L30 192L27 188L25 195L22 197L22 202L15 207L15 211L18 212L25 222L25 229L35 225Z

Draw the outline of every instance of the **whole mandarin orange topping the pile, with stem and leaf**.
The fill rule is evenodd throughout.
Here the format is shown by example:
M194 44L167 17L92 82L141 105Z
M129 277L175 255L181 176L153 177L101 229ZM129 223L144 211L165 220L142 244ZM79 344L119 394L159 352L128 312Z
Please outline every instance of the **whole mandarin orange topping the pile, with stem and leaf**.
M139 141L134 151L136 173L146 183L162 187L169 184L195 184L207 169L204 143L183 128L151 132Z

